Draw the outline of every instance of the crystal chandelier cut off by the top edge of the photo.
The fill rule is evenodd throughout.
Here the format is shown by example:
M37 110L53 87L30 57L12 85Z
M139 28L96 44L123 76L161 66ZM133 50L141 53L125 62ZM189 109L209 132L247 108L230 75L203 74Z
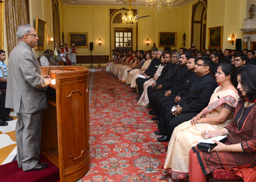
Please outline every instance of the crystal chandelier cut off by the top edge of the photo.
M145 0L146 7L157 11L157 14L162 10L173 9L173 0ZM154 7L155 6L155 7ZM165 8L163 8L163 6Z

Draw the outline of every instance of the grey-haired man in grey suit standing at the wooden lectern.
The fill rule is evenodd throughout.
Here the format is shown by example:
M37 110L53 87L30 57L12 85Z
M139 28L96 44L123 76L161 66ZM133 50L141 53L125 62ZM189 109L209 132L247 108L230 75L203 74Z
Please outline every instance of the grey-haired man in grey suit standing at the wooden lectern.
M37 34L30 24L19 25L18 45L11 51L8 65L6 108L17 113L16 141L18 167L23 171L48 167L39 163L42 110L47 109L46 90L49 75L42 75L32 48L37 46Z

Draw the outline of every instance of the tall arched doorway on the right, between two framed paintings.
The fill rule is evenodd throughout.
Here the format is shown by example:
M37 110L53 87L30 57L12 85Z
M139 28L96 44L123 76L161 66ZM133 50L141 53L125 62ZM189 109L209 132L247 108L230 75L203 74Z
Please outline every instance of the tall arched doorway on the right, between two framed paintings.
M207 0L199 1L197 4L193 5L191 44L194 43L199 50L206 48L206 8Z

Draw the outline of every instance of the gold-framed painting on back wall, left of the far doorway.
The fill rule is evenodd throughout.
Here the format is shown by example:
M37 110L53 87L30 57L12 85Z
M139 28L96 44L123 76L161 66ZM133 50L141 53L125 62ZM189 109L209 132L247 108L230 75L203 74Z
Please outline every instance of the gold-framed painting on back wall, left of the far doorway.
M69 33L70 45L75 44L75 47L88 47L87 33Z

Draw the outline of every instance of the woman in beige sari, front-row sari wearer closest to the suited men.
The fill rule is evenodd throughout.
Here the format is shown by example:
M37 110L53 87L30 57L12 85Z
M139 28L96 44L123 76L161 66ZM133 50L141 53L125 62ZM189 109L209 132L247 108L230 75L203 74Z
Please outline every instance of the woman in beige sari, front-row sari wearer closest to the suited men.
M139 74L142 74L148 68L148 66L150 66L151 61L152 61L151 60L151 55L150 55L150 53L147 53L146 54L146 61L143 64L143 66L139 70L137 69L136 72L134 70L129 72L128 77L127 77L127 82L129 84L131 84L132 89L133 88L135 88L135 90L137 89L136 79L138 78Z

